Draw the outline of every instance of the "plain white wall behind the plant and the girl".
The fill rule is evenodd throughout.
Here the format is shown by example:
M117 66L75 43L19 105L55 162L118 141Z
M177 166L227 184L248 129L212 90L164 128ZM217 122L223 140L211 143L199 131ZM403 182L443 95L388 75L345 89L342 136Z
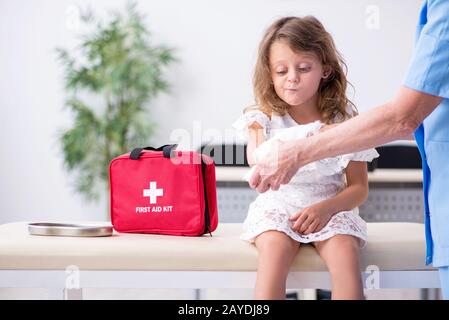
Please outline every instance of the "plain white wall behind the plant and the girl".
M251 73L265 28L284 15L316 15L346 57L361 111L392 97L406 72L420 0L140 1L155 43L176 47L167 70L170 95L150 104L160 123L152 142L172 130L225 130L252 102ZM104 220L105 203L86 204L69 184L56 141L71 115L63 110L62 70L54 48L71 47L73 5L98 12L124 1L0 0L0 223ZM367 28L379 8L380 29ZM375 7L375 8L376 8ZM368 9L369 10L369 9ZM192 142L192 148L198 141ZM187 146L184 146L187 147Z

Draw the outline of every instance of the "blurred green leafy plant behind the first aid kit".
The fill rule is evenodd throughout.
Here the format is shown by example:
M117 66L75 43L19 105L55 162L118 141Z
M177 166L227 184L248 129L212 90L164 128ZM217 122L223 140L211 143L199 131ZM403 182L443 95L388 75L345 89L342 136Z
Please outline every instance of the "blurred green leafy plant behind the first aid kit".
M74 115L73 125L58 139L76 190L92 201L101 190L109 193L109 162L148 143L155 129L148 102L168 90L162 70L175 59L173 49L150 43L135 3L106 23L92 11L80 18L91 31L82 34L79 47L56 49L64 67L66 106Z

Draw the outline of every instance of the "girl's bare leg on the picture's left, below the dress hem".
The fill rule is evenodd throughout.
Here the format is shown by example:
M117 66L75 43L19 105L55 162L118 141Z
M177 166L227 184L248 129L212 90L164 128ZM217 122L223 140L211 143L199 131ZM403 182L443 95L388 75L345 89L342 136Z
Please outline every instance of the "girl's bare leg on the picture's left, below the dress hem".
M255 239L259 251L254 299L285 299L286 280L299 243L280 231L265 231Z

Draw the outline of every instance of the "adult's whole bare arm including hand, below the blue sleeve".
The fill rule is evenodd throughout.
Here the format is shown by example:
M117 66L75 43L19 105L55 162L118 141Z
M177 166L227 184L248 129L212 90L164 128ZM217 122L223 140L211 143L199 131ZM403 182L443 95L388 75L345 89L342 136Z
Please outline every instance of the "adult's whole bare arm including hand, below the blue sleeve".
M307 139L281 144L276 159L267 158L260 163L269 168L274 164L271 174L256 172L249 181L250 186L258 192L269 188L277 190L310 162L407 139L441 99L403 86L397 96L384 105Z

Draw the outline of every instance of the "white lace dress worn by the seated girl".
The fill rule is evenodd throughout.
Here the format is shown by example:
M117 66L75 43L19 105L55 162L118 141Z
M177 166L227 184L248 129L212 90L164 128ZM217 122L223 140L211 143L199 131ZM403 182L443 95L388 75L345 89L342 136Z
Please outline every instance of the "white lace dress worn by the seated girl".
M288 113L284 116L273 114L271 119L258 110L243 114L233 127L238 133L247 138L248 125L259 123L264 128L266 142L261 144L255 155L262 149L269 149L267 145L274 139L288 140L305 138L309 132L316 132L322 123L300 125ZM288 129L295 127L295 129ZM263 147L265 145L265 147ZM259 152L259 156L263 152ZM310 243L326 240L337 234L348 234L357 237L360 246L366 244L366 222L360 218L358 208L341 211L334 214L328 224L318 232L301 234L293 231L293 222L288 218L317 202L336 196L346 187L345 168L349 161L371 161L378 157L375 149L326 158L309 163L300 168L291 181L282 185L279 190L268 190L261 193L250 204L248 215L243 223L242 240L254 242L255 237L267 230L282 231L296 241ZM256 157L257 158L257 157ZM247 175L247 180L250 175Z

